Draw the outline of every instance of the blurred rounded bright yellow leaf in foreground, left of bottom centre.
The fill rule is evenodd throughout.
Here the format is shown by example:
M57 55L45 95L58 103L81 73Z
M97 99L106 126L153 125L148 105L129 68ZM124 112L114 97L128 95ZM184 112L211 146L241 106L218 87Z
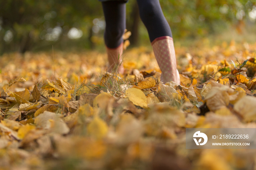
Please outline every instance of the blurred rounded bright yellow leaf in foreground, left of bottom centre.
M108 125L98 116L95 116L93 121L87 126L87 132L95 139L102 139L108 133Z

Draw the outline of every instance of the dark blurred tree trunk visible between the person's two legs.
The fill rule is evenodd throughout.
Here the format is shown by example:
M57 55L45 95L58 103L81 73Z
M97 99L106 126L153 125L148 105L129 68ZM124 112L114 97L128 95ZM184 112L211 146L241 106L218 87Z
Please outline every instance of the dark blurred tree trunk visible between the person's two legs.
M135 3L133 3L133 8L132 8L132 12L131 12L131 25L129 25L128 23L128 31L132 32L132 35L129 38L129 41L131 43L132 46L136 46L139 43L139 21L140 21L140 15L139 15L139 8L138 8L138 4L135 1Z

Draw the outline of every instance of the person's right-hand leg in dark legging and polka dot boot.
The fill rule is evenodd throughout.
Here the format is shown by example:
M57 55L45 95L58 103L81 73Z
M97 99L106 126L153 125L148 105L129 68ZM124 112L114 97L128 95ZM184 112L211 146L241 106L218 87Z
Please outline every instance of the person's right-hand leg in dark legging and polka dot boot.
M142 22L147 28L151 45L162 71L161 81L180 84L172 31L163 15L159 0L137 0Z

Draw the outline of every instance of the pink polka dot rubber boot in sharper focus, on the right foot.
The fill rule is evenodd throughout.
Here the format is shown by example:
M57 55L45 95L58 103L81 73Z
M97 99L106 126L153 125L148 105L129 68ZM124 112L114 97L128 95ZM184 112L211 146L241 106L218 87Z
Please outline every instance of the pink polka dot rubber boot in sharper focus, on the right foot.
M161 36L156 38L151 45L153 47L157 63L162 71L161 81L164 84L170 81L180 84L180 75L177 70L176 55L172 37Z

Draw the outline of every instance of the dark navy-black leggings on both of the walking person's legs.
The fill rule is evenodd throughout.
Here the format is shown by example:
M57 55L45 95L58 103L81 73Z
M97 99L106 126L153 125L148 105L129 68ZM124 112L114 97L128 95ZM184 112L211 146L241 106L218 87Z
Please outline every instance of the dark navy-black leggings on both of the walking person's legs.
M172 37L172 31L163 15L159 0L137 0L140 18L147 28L150 42L161 36ZM116 48L122 42L126 27L126 1L113 0L102 2L106 21L105 44Z

